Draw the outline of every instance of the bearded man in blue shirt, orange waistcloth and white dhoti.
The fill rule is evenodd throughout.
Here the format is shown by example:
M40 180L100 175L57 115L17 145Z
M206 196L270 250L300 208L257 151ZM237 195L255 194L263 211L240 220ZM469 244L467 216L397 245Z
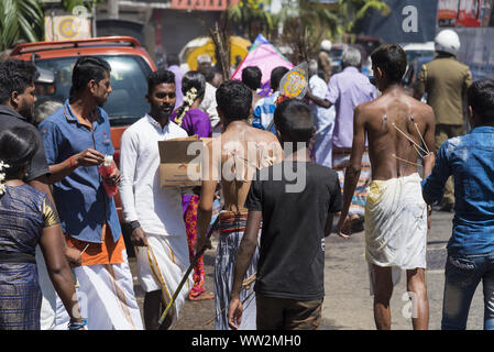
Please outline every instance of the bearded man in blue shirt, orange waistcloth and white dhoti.
M103 59L79 57L69 99L40 131L62 229L68 246L83 252L74 273L88 329L142 329L117 208L103 187L116 187L120 173L113 167L102 178L98 172L114 153L109 118L101 109L111 92L110 70ZM59 308L57 299L56 329L65 328L68 318Z

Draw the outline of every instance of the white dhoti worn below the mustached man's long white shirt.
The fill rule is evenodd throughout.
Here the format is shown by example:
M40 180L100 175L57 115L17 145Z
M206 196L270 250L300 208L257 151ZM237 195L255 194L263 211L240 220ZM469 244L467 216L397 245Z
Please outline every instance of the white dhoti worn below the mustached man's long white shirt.
M146 293L161 290L163 300L167 305L190 265L187 238L185 234L147 234L147 243L149 248L135 248L139 282ZM173 322L168 329L176 324L178 312L193 285L193 273L190 273L171 309Z

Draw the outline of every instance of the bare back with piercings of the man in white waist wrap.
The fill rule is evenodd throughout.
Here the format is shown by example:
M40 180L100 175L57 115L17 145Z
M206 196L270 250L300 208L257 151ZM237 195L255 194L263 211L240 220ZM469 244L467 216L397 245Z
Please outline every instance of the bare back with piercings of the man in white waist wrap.
M358 110L355 123L369 139L373 179L417 173L419 153L435 152L432 109L403 89L386 92Z

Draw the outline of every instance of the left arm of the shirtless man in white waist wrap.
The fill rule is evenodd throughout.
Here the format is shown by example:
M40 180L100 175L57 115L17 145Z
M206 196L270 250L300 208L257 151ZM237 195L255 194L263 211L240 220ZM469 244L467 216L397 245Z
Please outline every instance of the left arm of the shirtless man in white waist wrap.
M352 202L353 193L355 191L356 184L359 182L360 172L362 168L362 155L365 148L364 119L361 110L362 108L359 106L354 111L352 154L344 173L343 208L341 210L340 220L338 221L337 227L338 235L343 239L348 238L344 232L350 233L350 219L348 219L348 213ZM348 230L344 231L343 228L348 228Z

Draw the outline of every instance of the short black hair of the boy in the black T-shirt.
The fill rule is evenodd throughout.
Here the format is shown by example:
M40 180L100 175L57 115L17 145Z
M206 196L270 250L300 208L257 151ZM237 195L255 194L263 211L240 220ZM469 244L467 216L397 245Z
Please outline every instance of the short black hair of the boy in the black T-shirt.
M298 99L282 101L274 110L274 124L284 142L309 142L314 134L310 108Z

